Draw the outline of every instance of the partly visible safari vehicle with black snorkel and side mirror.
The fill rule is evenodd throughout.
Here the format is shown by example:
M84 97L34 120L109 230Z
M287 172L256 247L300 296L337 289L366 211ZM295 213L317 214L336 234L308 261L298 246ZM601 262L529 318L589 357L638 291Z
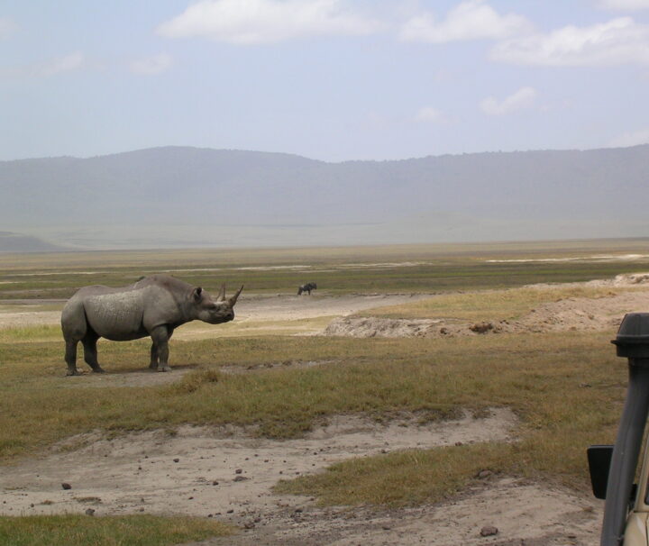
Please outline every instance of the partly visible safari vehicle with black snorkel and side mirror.
M629 380L615 445L588 450L593 494L606 499L600 544L649 546L649 437L634 483L649 413L649 313L626 314L613 343Z

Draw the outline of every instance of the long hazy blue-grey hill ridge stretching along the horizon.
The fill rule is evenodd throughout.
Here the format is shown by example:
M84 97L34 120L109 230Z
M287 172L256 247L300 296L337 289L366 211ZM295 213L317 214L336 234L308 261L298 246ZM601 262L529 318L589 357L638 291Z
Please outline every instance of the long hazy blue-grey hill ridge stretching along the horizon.
M166 147L0 162L0 229L104 247L647 236L648 182L649 145L342 163Z

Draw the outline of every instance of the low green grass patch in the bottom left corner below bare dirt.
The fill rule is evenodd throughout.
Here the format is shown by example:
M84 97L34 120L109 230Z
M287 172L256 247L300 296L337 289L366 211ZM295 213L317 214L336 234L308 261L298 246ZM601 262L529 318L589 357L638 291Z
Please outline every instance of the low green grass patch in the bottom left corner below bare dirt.
M0 517L0 544L6 546L171 546L232 533L224 523L190 517Z

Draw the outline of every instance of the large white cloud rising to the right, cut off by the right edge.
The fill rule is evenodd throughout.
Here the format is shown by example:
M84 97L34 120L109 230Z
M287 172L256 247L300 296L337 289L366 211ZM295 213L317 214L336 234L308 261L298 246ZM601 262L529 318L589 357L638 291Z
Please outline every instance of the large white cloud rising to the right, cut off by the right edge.
M498 43L490 59L553 67L649 63L649 25L620 17L589 27L566 26Z

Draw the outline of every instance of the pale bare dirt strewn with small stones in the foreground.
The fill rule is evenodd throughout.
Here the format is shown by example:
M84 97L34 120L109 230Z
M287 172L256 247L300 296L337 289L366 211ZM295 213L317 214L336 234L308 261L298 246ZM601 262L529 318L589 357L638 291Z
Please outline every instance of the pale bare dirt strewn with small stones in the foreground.
M322 508L303 496L277 496L282 478L317 472L339 460L456 442L511 441L507 409L442 423L415 417L379 424L334 418L304 439L257 439L233 428L182 427L106 440L70 438L39 458L5 468L0 514L191 514L242 527L235 539L204 544L330 545L483 544L498 540L594 544L599 506L561 489L489 476L451 503L416 509ZM83 444L84 447L74 449ZM69 484L64 489L62 484ZM555 541L556 539L556 541ZM507 542L508 543L508 542ZM517 542L516 542L517 543Z

